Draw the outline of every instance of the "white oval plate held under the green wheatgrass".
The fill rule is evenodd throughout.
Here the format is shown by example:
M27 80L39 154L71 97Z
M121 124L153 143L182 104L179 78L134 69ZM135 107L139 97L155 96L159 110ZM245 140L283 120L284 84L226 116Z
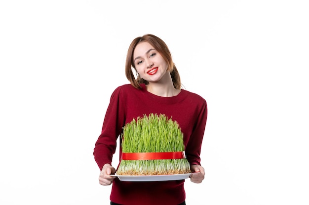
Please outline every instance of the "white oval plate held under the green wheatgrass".
M117 176L120 181L170 181L170 180L182 180L188 178L190 175L195 173L188 174L177 174L177 175L141 175L141 176L128 176L128 175L110 175Z

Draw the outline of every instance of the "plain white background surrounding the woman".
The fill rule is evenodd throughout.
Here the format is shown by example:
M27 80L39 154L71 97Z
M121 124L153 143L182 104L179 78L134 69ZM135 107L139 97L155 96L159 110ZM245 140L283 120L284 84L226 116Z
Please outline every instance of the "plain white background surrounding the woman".
M0 204L109 204L94 143L129 44L152 33L208 103L187 204L308 205L306 2L2 0Z

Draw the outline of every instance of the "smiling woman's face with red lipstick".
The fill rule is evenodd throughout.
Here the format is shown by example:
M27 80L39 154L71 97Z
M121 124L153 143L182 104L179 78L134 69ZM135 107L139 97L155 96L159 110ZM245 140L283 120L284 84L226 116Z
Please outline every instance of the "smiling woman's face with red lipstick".
M148 42L137 44L133 52L134 66L144 80L151 82L161 81L166 75L167 63L162 56Z

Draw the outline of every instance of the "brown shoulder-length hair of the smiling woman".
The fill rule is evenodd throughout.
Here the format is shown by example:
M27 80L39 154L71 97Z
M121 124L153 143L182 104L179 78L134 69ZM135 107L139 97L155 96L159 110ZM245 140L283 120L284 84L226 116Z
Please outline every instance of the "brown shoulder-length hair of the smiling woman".
M132 72L132 67L136 71L136 68L134 66L134 61L133 61L133 53L134 53L135 47L137 46L137 44L139 44L140 42L144 42L144 41L152 45L154 49L157 52L159 52L162 58L166 61L167 70L171 74L173 86L176 89L180 89L181 88L180 75L173 62L172 55L167 45L164 43L164 41L153 34L145 34L143 36L137 37L131 42L129 46L127 57L126 57L126 62L125 62L125 76L130 81L131 85L135 88L142 88L140 86L141 83L149 84L148 81L142 79L138 74L137 74L137 79L135 79L133 72Z

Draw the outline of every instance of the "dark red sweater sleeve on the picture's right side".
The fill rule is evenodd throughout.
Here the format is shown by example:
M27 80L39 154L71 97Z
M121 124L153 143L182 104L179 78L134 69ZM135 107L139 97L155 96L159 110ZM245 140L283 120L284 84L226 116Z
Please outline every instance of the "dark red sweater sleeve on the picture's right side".
M205 100L196 111L197 118L193 127L192 135L186 146L187 159L191 165L200 165L200 152L207 120L207 103Z

